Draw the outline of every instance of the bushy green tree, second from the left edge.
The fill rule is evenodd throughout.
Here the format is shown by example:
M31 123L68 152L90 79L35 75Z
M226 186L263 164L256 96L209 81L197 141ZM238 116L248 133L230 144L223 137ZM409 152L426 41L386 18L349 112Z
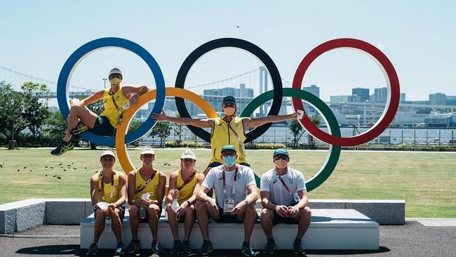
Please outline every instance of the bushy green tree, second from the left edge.
M48 98L49 89L46 84L34 84L25 82L20 86L24 94L25 102L25 119L27 119L29 130L33 136L39 133L40 127L45 119L49 117ZM44 103L40 102L40 95L45 99Z

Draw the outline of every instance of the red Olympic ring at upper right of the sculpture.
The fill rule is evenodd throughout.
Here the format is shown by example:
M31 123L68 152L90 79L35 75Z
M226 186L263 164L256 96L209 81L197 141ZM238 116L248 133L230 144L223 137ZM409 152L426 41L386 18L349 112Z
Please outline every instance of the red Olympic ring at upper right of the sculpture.
M393 121L394 115L396 114L399 105L399 79L396 74L396 70L394 70L394 67L387 56L384 55L384 53L382 53L382 51L380 51L375 46L358 39L333 39L317 46L312 51L310 51L304 57L304 59L302 59L295 72L295 77L293 78L293 88L301 88L302 79L304 78L304 74L307 71L307 68L309 68L311 63L316 58L318 58L318 56L335 48L354 48L361 50L364 53L368 53L370 56L375 58L377 64L379 64L380 68L383 71L383 74L387 81L387 86L391 92L389 99L387 99L387 110L386 112L383 112L379 121L377 121L377 123L368 131L361 133L358 136L347 138L333 136L324 131L321 131L321 129L318 129L318 127L316 127L306 115L304 115L304 117L300 120L300 123L312 136L330 145L362 145L363 143L367 143L370 140L373 140L375 137L379 136L385 129L387 129L391 121ZM293 108L295 111L304 110L304 106L302 105L302 100L300 98L293 98Z

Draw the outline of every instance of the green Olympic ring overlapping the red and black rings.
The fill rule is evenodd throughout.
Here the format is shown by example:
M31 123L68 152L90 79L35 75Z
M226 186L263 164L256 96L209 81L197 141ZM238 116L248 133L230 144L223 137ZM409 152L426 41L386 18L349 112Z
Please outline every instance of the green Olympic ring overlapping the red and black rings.
M260 105L266 103L268 100L271 100L274 97L273 93L274 90L271 90L258 95L257 98L253 99L252 102L250 102L246 108L244 108L240 116L250 117L250 114L252 114L253 111L257 109L257 107L260 107ZM337 124L337 119L335 118L333 112L330 110L330 107L328 107L328 105L326 105L323 100L316 97L316 95L296 88L283 88L283 96L300 98L313 105L316 110L319 110L321 114L323 114L323 119L329 126L329 132L333 136L340 136L339 124ZM316 187L323 184L326 179L328 179L331 173L333 173L339 157L340 146L330 145L329 154L328 157L326 157L325 164L323 164L320 171L318 171L310 180L306 182L307 192L314 190ZM258 177L256 173L255 182L257 183L257 187L260 187L260 177Z

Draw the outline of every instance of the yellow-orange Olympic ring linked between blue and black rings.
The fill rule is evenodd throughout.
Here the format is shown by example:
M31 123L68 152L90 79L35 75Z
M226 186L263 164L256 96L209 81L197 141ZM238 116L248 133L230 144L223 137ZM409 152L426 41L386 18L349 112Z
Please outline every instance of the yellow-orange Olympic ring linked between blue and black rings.
M183 88L175 88L169 87L166 88L166 96L177 96L180 98L184 98L186 100L191 101L195 105L203 110L203 112L209 118L216 118L218 117L217 113L215 113L214 109L210 104L201 98L201 96L196 95L191 91L187 91ZM147 93L143 94L138 98L138 103L133 105L132 107L128 108L125 112L123 112L122 122L119 124L116 130L116 151L117 151L117 158L119 159L119 163L123 171L128 174L130 171L135 171L135 167L130 161L130 157L127 154L127 145L125 143L125 134L128 129L128 125L130 125L130 121L133 118L133 115L136 111L142 106L145 105L147 102L154 100L156 98L156 89L152 91L148 91Z

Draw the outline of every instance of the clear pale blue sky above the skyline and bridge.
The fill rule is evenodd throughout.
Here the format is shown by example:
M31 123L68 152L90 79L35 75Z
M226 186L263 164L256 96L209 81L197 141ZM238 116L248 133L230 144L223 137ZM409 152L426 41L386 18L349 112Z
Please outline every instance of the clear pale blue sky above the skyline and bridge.
M427 100L429 93L456 95L455 13L454 1L2 1L0 66L57 81L76 48L100 37L122 37L146 48L159 62L167 86L174 86L182 61L194 48L236 37L260 46L291 82L312 48L352 37L388 56L408 100ZM186 86L259 65L238 49L213 51L195 63ZM71 84L101 88L114 66L123 70L125 83L154 88L145 62L119 48L89 55ZM0 79L7 76L0 70ZM352 87L376 88L385 82L366 55L337 49L311 65L303 81L310 84L320 86L321 98L328 100L329 95L351 94Z

